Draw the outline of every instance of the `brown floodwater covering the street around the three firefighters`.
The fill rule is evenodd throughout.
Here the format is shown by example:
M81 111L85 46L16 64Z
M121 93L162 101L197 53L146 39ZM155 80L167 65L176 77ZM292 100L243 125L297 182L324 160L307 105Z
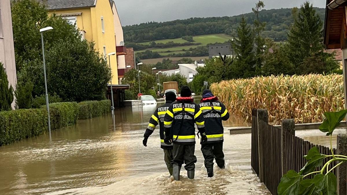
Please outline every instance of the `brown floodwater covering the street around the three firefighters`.
M200 145L195 179L172 181L159 130L142 145L155 106L123 108L0 147L0 194L269 194L251 170L251 134L225 131L226 169L208 178ZM231 117L226 126L245 126ZM197 140L198 143L198 140Z

